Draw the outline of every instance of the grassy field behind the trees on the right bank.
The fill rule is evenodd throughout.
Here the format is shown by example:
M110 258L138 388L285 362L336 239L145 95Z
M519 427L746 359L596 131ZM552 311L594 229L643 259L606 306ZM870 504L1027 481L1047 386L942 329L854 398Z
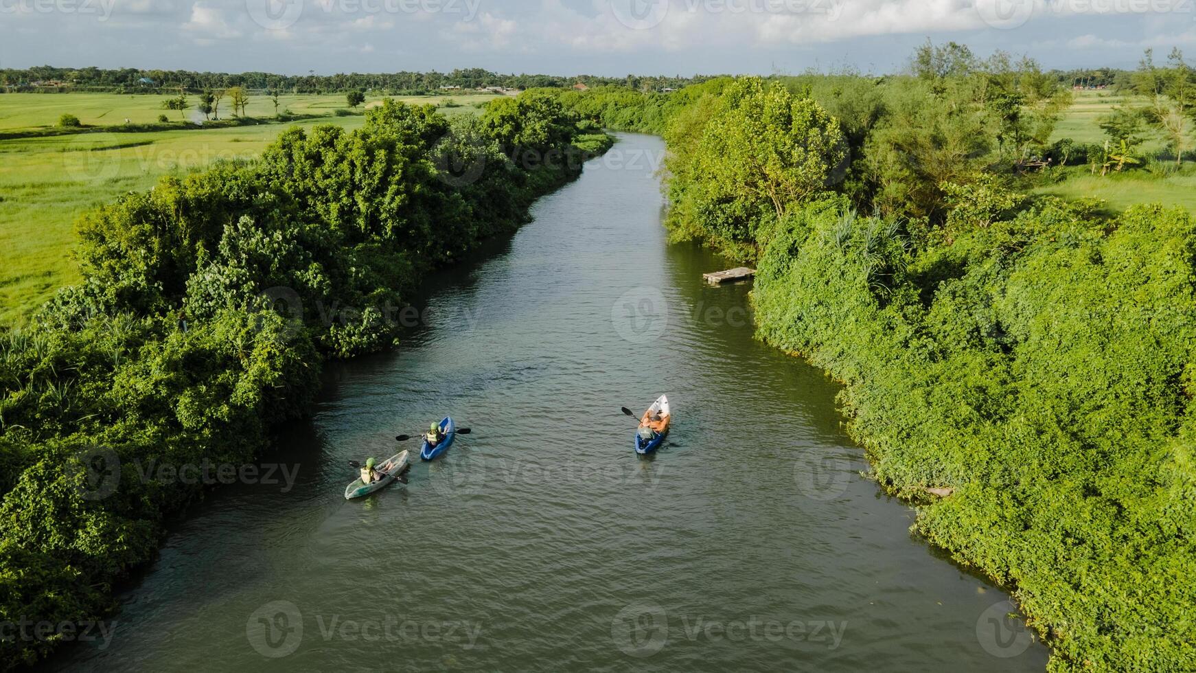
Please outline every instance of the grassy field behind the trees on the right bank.
M1100 118L1117 105L1142 106L1145 99L1119 96L1111 91L1082 91L1075 93L1075 102L1055 128L1051 140L1070 137L1076 142L1104 142ZM1163 153L1164 141L1155 131L1147 131L1141 152L1148 155ZM1093 197L1109 202L1110 210L1124 210L1135 203L1163 203L1183 206L1196 212L1196 166L1176 172L1171 161L1152 161L1145 170L1109 176L1091 175L1086 169L1072 169L1066 181L1035 190L1036 194L1052 194L1064 198Z

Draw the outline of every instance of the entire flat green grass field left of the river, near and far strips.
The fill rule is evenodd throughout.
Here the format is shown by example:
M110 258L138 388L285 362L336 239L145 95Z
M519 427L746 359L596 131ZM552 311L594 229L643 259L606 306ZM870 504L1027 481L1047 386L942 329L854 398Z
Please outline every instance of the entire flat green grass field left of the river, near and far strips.
M129 98L135 100L129 102ZM89 93L0 94L0 127L19 129L57 120L65 111L84 123L153 121L161 97ZM452 97L459 106L446 114L476 111L472 103L493 96ZM343 96L287 97L292 112L319 114L344 108ZM249 111L273 115L266 99L251 98ZM403 98L408 102L447 97ZM367 102L368 103L368 102ZM262 105L269 105L268 112ZM281 108L281 105L280 105ZM178 115L178 112L172 112ZM90 116L89 116L90 115ZM138 121L138 120L134 120ZM79 214L133 190L146 190L165 175L185 173L221 159L254 158L292 127L336 124L358 128L361 115L304 120L294 124L260 124L219 129L147 133L84 133L0 141L0 324L14 324L42 305L57 288L79 280L73 259L74 221Z

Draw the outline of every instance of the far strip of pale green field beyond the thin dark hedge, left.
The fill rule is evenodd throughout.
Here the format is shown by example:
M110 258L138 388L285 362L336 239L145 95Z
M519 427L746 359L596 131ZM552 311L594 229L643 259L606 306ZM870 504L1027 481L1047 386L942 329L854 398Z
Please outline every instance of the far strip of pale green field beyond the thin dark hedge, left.
M124 120L135 124L148 124L157 122L159 115L166 115L171 121L203 120L203 115L195 110L195 105L200 102L197 96L188 96L191 109L185 112L164 110L161 103L167 98L170 97L120 93L4 93L0 94L0 130L54 127L57 124L59 117L65 114L79 117L79 121L86 126L117 126L124 123ZM453 102L468 109L474 103L492 98L494 98L493 94L463 94L408 96L395 99L404 103L437 105ZM377 96L366 97L366 105L380 99ZM332 116L337 110L347 110L348 108L343 93L279 97L279 111L289 110L294 115ZM246 115L250 117L273 117L274 103L266 96L250 96ZM220 117L232 118L232 105L226 98L220 103Z

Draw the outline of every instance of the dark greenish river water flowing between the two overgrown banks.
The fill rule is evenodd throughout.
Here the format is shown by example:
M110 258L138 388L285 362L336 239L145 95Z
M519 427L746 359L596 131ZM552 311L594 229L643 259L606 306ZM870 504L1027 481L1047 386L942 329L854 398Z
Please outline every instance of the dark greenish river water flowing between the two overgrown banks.
M282 432L263 464L286 472L194 507L106 646L51 666L1042 671L1008 596L861 476L837 386L752 339L750 286L707 287L728 263L666 245L663 149L622 135L429 282L403 347L332 366ZM660 393L673 429L641 458L618 409ZM474 434L343 500L348 460L450 412Z

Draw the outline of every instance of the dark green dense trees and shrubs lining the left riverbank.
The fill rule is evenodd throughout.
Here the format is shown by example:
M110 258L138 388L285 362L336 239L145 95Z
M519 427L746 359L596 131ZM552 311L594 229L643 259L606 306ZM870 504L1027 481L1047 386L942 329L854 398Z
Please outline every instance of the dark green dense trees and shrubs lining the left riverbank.
M304 414L321 362L386 348L429 269L517 228L612 139L530 93L451 122L388 102L79 222L85 281L0 330L0 669L114 608L196 479ZM317 307L337 306L334 317ZM37 625L49 625L42 631Z

